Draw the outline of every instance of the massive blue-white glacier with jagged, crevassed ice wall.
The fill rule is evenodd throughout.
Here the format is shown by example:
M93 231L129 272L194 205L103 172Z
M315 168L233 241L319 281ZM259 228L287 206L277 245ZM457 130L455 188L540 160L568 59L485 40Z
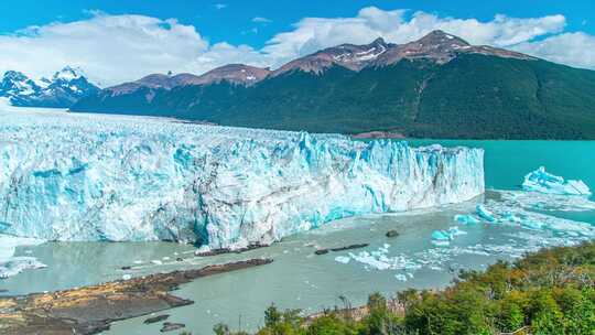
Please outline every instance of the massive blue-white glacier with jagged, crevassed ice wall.
M0 118L0 233L15 236L234 248L484 192L480 149L136 117Z

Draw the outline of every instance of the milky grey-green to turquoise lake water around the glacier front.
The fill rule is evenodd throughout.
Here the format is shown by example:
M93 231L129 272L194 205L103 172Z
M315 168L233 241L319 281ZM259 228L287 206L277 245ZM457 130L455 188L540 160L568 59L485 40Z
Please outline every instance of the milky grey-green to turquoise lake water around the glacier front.
M506 203L502 197L510 195L501 191L519 190L523 175L541 165L566 179L583 180L595 188L595 142L414 140L411 143L484 148L486 187L497 191L456 206L338 220L242 255L195 258L192 246L167 242L52 242L22 247L17 250L18 256L34 256L47 268L28 270L1 280L0 291L3 293L0 294L52 291L120 279L123 274L142 275L238 259L273 258L271 264L199 279L175 292L195 303L164 312L171 314L169 321L185 323L186 331L193 334L213 334L213 325L219 322L232 328L253 329L263 323L263 310L272 302L282 309L303 309L305 313L340 306L339 296L357 305L365 303L368 294L375 291L393 294L407 288L444 287L459 269L484 269L498 259L512 260L527 250L593 238L588 234L528 229L512 224L464 226L453 218L456 214L474 213L477 203L486 202L487 206L499 208L498 204ZM523 213L534 213L538 218L545 215L543 219L560 223L561 227L571 227L571 230L576 221L583 223L578 224L581 229L585 225L595 226L595 210L586 210L592 204L586 201L580 201L577 205L571 201L561 208L556 207L558 198L540 198L539 203L545 203L545 207L531 207L532 202L530 198L527 203L522 197L522 201L506 203L510 208L502 205L502 210L516 210L512 205L522 204ZM552 210L549 205L558 209ZM576 207L582 210L574 210ZM466 234L456 236L450 246L432 244L432 231L453 226ZM398 230L400 236L387 238L385 234L390 229ZM581 229L576 228L576 231ZM314 255L318 247L360 242L369 242L370 246L350 250L354 256L383 249L380 253L400 266L398 269L378 270L349 258L349 251ZM185 260L176 262L177 257ZM349 258L349 262L342 263L336 257ZM163 264L151 260L160 260ZM134 264L134 261L142 263ZM122 271L120 268L123 266L133 266L133 269ZM117 322L106 334L160 334L160 324L144 325L144 318Z

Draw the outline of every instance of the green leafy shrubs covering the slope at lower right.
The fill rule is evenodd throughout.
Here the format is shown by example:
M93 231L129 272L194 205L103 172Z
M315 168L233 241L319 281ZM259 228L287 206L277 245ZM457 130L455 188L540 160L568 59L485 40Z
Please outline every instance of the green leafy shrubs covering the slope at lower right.
M595 244L542 250L485 272L462 272L445 290L399 292L392 304L375 293L365 311L361 317L329 310L304 318L300 311L281 312L272 305L257 334L593 335ZM247 334L223 324L214 331Z

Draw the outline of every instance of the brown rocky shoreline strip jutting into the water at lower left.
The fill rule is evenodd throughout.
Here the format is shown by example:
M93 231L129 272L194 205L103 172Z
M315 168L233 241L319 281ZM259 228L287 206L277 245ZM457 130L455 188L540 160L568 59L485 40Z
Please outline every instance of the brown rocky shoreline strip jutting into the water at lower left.
M155 273L79 289L0 298L1 334L97 334L119 320L184 306L170 294L195 279L271 263L250 259L201 269Z

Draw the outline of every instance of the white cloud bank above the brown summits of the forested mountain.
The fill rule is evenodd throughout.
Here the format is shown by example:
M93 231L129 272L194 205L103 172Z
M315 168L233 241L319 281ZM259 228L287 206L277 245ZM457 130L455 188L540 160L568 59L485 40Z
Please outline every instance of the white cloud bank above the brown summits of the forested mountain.
M368 43L382 36L388 42L405 43L441 29L473 44L508 47L564 29L563 15L517 19L496 15L491 21L440 18L415 12L407 20L404 10L383 11L364 8L355 18L306 18L294 30L275 35L264 51L290 57L340 43Z

